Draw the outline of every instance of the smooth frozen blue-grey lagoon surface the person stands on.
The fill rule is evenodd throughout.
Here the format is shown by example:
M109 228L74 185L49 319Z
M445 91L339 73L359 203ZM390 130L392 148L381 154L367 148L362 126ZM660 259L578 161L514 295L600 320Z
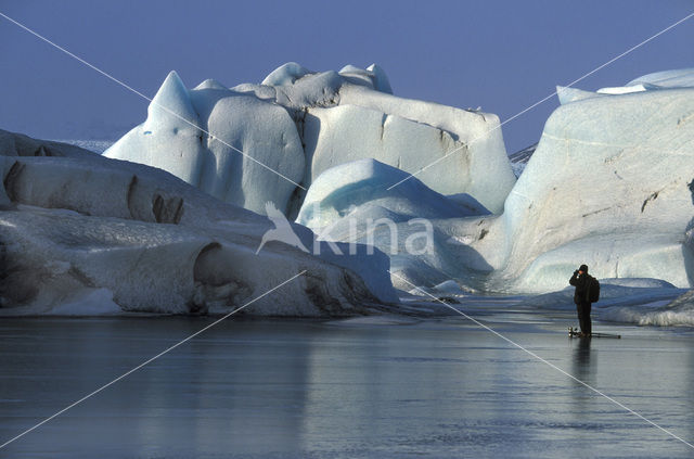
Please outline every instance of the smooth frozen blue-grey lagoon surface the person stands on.
M484 323L694 439L694 330L594 324L513 299ZM0 443L210 318L0 321ZM4 458L692 457L694 451L460 316L230 318L3 449Z

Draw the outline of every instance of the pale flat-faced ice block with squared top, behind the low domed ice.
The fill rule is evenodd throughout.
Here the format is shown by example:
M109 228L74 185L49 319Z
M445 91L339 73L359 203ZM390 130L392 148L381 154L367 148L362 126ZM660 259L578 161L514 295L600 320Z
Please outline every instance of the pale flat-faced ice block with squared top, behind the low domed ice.
M364 109L382 114L381 118L365 118L368 123L362 126L375 141L372 148L382 152L381 157L372 157L416 174L427 187L439 193L467 193L492 213L503 211L503 202L515 183L515 175L506 156L497 115L397 98L359 86L343 87L339 97L340 106L360 107L351 110L351 116L346 117L349 122L347 126L356 126L355 118L361 113L367 115ZM309 110L309 117L316 113L319 114L320 122L333 123L330 117L323 119L330 112ZM412 125L406 120L421 127L411 131ZM376 132L380 133L378 137L375 136ZM359 143L352 145L332 141L335 136L332 131L321 135L326 140L323 149L332 149L331 165L336 165L339 161L334 158L338 153L340 157L349 154L351 158L355 158L355 154L363 154L358 150ZM437 137L439 140L435 141ZM404 145L408 142L417 148L407 149ZM309 144L307 141L305 143ZM399 154L400 151L407 154ZM313 153L314 157L322 155L324 153ZM421 171L424 167L423 158L426 166L437 163ZM314 166L313 177L322 170L324 169Z

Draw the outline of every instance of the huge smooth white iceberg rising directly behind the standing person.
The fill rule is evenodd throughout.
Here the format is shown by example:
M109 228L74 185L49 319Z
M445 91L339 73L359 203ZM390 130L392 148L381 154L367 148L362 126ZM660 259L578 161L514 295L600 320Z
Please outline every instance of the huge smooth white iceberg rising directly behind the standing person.
M476 250L497 290L547 292L586 263L599 278L691 286L694 89L602 95L548 119Z

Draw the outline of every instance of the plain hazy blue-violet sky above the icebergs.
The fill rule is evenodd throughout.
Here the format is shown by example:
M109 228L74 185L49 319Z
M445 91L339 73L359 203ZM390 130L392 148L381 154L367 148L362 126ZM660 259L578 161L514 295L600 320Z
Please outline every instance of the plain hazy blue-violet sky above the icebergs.
M694 12L694 1L31 1L0 12L153 95L378 63L397 95L506 119ZM694 18L581 81L619 86L694 67ZM146 101L0 17L0 128L52 139L117 138ZM511 153L539 138L556 97L503 127Z

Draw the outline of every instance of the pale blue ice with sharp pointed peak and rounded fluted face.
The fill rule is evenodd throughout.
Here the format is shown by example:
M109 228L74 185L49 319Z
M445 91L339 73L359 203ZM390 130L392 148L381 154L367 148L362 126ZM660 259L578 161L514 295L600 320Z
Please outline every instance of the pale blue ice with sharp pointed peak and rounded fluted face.
M171 72L147 119L104 155L162 168L257 213L268 201L286 211L296 189L292 181L304 175L294 122L280 106L220 86L208 81L189 91Z

